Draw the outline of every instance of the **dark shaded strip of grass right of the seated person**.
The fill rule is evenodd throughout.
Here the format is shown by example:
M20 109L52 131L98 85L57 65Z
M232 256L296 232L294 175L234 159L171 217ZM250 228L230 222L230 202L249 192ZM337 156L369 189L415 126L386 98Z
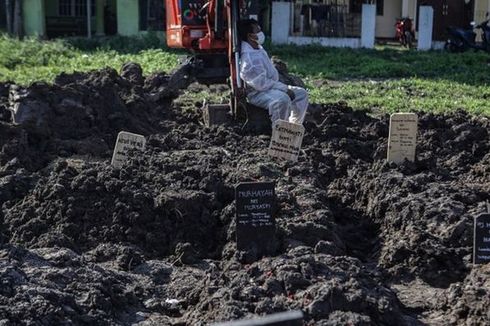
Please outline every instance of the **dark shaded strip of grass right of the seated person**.
M396 47L352 50L320 46L272 47L270 52L286 61L291 72L303 77L335 80L419 77L476 85L490 83L490 56L484 52L421 52Z

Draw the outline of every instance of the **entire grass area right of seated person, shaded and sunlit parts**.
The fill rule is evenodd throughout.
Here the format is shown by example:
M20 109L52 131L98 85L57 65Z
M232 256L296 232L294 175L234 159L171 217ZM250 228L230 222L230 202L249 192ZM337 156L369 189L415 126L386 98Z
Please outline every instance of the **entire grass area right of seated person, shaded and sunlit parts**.
M311 101L384 112L458 109L490 116L490 55L483 52L273 47L304 78Z

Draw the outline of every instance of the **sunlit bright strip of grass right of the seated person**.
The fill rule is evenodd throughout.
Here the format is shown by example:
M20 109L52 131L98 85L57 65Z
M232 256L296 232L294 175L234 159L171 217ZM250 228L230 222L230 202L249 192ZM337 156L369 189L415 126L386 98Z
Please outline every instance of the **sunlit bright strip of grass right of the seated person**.
M358 109L384 112L451 112L458 109L490 116L490 87L449 80L403 78L379 81L321 82L307 80L311 101L345 101Z

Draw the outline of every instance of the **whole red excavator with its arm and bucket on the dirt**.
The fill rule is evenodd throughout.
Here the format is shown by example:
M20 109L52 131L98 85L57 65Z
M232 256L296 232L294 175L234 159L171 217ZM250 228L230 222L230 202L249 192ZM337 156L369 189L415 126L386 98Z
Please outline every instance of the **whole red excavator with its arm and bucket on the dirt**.
M167 44L192 54L174 72L169 84L185 88L193 81L207 85L228 82L230 105L205 105L208 120L219 123L220 113L227 110L236 120L244 119L244 126L261 128L261 121L267 122L268 115L246 103L240 79L237 23L245 5L244 0L166 0Z

